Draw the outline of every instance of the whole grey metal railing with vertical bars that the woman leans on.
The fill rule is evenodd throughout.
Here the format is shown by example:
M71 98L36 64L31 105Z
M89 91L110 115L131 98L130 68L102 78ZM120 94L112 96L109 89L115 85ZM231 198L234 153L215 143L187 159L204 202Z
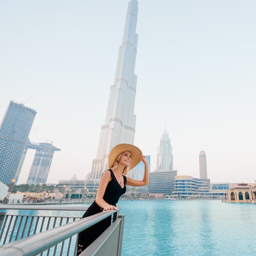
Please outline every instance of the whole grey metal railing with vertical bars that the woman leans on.
M60 210L62 208L61 210L67 211L85 210L84 206L72 206L67 207L68 209L63 209L62 206L48 205L34 205L33 207L28 205L0 205L1 208L30 210ZM5 215L2 212L0 216L0 241L2 241L3 246L0 247L0 255L75 256L77 233L113 215L111 226L80 255L120 256L124 227L124 216L119 215L120 208L117 207L117 210L100 212L81 220L79 220L80 217ZM52 229L49 230L50 228Z

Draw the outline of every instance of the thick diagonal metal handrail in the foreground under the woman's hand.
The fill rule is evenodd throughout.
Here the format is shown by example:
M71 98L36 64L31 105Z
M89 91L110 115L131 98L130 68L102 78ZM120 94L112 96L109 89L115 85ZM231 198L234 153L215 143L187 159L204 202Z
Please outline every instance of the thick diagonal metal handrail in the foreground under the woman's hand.
M1 256L35 256L38 253L44 252L45 250L51 248L55 244L58 244L63 240L83 231L84 229L91 227L113 213L118 212L120 209L121 207L118 206L116 207L116 210L100 212L64 226L53 228L51 230L47 230L45 232L6 244L0 247L0 254Z

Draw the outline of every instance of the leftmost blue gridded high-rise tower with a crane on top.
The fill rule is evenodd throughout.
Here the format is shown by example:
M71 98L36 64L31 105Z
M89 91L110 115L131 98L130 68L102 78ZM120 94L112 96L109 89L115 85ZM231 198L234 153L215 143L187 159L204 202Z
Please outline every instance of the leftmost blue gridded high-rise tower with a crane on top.
M10 101L0 125L0 181L4 184L18 180L17 170L35 116L35 110Z

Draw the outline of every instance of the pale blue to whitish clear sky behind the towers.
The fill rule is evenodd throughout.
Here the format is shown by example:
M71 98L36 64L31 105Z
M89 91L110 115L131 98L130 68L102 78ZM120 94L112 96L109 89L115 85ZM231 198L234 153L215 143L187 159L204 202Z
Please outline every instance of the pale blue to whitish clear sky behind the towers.
M37 111L29 139L61 148L48 183L92 169L128 2L0 2L0 118L10 100ZM198 178L204 150L211 182L256 180L255 9L252 0L139 0L134 144L151 172L167 124L178 175Z

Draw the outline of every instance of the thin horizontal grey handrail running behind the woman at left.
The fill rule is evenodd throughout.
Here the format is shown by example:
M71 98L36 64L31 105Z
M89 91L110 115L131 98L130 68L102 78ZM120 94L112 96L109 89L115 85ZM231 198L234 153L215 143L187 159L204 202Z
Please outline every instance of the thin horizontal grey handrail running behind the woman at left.
M0 209L4 210L50 210L50 211L86 211L89 206L74 206L74 204L65 205L20 205L20 204L3 204ZM65 207L65 208L64 208ZM70 208L69 208L70 207ZM71 209L72 207L72 209Z

